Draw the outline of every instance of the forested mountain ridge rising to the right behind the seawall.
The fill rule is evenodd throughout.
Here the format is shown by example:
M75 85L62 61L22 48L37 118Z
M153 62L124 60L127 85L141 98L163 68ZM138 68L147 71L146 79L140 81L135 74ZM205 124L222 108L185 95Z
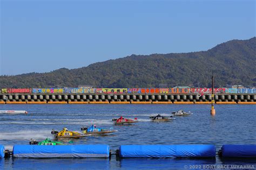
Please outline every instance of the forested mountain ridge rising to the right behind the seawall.
M214 70L215 86L241 84L256 86L256 38L231 40L208 51L131 55L93 63L77 69L60 68L49 73L0 76L0 88L25 87L210 87Z

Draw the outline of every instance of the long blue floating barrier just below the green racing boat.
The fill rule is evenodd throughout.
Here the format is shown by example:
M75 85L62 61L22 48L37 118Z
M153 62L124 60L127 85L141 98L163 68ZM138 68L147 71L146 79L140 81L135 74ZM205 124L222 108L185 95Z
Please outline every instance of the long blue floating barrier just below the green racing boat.
M108 158L109 145L14 145L16 158Z

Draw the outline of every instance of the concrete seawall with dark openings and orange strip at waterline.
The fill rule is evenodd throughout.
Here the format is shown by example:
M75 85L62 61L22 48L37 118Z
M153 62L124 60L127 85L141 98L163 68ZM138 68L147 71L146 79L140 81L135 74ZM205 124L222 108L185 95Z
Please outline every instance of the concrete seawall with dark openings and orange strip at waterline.
M210 104L211 94L0 94L0 104ZM256 94L215 94L216 104L256 104Z

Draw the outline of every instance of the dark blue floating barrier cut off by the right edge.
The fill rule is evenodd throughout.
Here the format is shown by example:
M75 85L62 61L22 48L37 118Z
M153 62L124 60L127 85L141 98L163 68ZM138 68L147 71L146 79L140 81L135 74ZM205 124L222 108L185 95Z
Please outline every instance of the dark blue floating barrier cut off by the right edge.
M256 157L256 145L223 145L222 157Z

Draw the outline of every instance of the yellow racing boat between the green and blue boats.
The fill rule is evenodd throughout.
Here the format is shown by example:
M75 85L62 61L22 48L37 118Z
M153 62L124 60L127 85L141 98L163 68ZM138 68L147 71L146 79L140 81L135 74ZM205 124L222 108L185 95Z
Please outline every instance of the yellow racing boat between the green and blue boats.
M82 138L82 137L91 135L91 134L81 134L74 131L68 131L68 129L66 128L63 128L63 130L60 132L52 129L51 134L54 134L56 138Z

